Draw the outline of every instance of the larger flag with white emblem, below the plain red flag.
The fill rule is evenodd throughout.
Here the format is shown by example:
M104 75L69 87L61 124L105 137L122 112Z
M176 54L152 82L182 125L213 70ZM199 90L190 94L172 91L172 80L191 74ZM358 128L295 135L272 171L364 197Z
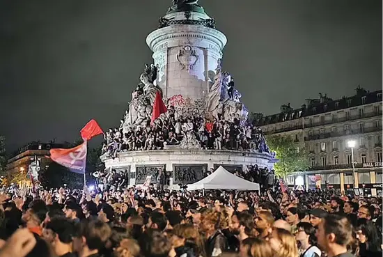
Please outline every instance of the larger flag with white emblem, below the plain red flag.
M86 166L86 141L75 148L54 148L49 150L50 158L75 173L85 173Z

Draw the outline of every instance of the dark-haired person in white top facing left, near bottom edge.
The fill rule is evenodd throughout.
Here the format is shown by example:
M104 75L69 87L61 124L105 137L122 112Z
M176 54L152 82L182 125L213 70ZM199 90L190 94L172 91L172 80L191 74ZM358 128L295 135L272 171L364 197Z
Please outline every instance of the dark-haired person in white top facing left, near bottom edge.
M300 257L320 257L322 251L316 246L315 228L308 222L297 224L295 240L299 242Z

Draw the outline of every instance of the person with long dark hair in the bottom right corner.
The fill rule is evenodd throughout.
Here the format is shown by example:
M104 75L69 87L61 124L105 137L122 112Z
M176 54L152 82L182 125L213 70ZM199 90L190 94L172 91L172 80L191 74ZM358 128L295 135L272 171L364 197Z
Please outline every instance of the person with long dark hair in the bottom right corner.
M368 219L358 219L355 229L357 239L359 240L360 257L382 256L380 244L382 239L377 233L377 228L372 221Z

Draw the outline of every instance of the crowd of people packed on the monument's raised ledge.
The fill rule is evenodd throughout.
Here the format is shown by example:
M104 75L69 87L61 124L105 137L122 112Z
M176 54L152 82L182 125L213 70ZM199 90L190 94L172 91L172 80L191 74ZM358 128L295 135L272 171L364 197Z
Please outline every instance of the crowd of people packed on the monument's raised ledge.
M254 150L269 153L265 137L258 127L244 125L240 119L209 120L199 114L175 117L174 108L146 127L111 129L105 134L103 154L111 157L124 151L160 150L171 146L215 150Z

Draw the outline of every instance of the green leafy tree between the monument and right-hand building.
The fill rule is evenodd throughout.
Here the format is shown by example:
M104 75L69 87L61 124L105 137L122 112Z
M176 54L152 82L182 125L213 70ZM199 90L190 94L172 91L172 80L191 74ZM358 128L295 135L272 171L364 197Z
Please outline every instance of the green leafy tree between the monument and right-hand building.
M308 157L306 150L299 147L291 137L270 135L267 137L267 145L276 153L279 162L274 164L276 175L286 179L295 171L304 171L308 168Z

